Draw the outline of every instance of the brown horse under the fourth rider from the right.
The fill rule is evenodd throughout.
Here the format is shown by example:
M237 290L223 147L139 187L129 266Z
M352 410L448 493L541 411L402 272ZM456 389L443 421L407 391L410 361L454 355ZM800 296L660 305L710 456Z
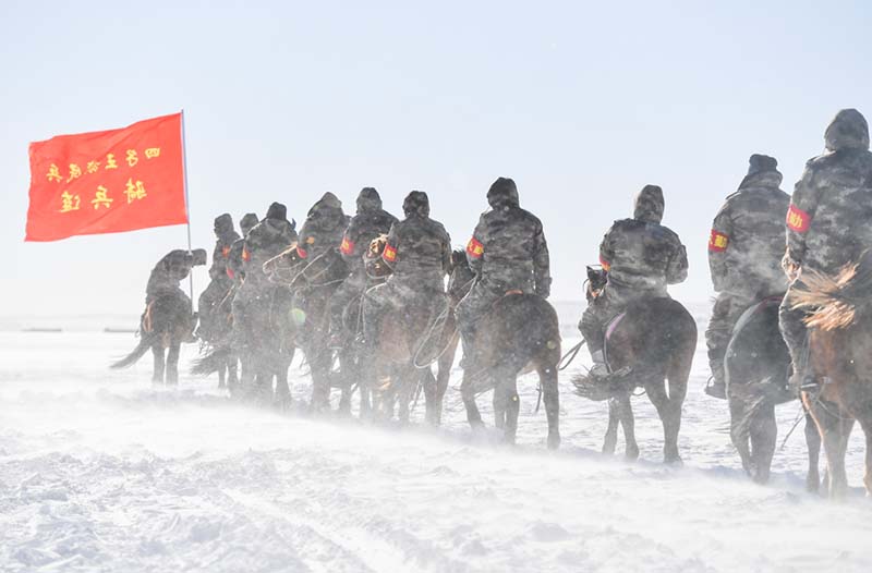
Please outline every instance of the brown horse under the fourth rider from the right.
M457 264L451 281L463 284L472 270ZM462 276L460 276L462 273ZM472 281L467 281L472 285ZM467 410L467 420L473 429L484 427L475 397L494 390L494 418L502 440L513 444L518 432L518 376L529 371L538 375L548 423L547 446L560 446L560 393L557 386L557 364L560 362L560 327L557 312L535 294L508 292L497 300L491 312L480 319L476 362L463 370L460 393Z

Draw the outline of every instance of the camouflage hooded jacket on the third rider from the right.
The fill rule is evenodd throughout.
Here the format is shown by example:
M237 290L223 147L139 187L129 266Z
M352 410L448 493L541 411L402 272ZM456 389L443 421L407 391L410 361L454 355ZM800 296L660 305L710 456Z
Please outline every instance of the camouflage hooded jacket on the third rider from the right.
M663 192L646 185L637 196L632 219L615 221L600 245L600 263L608 271L608 284L666 294L667 284L688 277L685 245L663 219Z

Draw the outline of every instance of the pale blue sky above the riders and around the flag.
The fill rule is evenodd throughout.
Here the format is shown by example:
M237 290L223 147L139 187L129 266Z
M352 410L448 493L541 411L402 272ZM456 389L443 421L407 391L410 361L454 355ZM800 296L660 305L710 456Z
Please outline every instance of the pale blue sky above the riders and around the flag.
M179 5L177 5L179 4ZM302 221L363 186L428 193L456 245L497 176L545 227L553 297L582 297L646 183L712 295L711 221L752 153L792 191L841 108L872 119L872 9L856 2L38 2L0 5L0 315L135 314L184 227L24 243L29 142L185 110L191 224ZM205 288L195 271L196 290ZM198 293L197 293L198 294Z

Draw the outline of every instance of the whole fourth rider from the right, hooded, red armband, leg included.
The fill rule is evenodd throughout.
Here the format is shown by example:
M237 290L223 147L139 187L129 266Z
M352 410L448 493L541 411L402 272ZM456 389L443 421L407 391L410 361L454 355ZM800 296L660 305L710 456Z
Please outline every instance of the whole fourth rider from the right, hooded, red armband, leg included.
M542 222L520 207L514 181L497 179L487 192L487 203L491 210L482 214L467 245L475 283L456 310L463 368L474 367L475 326L496 301L508 292L543 298L550 293L548 245Z

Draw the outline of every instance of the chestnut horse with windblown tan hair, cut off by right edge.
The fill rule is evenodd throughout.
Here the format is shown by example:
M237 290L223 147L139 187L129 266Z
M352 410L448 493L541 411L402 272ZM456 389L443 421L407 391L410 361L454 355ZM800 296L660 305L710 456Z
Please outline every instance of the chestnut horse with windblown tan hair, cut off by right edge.
M788 294L792 308L806 309L808 366L819 382L801 392L823 440L827 493L847 495L845 453L855 422L865 434L863 484L872 495L872 254L834 276L802 269Z

